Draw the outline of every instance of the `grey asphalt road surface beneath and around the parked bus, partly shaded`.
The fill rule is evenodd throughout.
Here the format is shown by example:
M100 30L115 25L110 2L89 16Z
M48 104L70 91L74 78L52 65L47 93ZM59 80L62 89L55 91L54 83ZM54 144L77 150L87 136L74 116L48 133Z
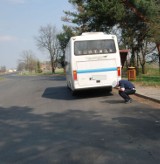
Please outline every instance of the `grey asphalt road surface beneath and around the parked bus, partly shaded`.
M158 107L114 92L73 97L58 75L0 81L0 164L158 163Z

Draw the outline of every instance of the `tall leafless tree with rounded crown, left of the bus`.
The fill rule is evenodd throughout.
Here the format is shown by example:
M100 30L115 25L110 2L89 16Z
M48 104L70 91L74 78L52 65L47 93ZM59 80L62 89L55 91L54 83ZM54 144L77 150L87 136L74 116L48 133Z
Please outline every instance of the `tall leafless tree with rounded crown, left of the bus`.
M40 27L39 36L35 37L35 40L39 49L45 49L49 52L52 73L55 73L56 60L60 51L56 27L50 24Z

